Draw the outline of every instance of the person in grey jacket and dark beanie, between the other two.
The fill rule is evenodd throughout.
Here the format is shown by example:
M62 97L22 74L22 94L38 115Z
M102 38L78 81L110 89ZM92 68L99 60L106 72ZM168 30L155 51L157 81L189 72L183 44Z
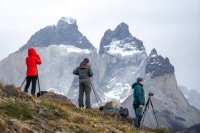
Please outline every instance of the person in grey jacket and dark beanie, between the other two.
M86 109L91 109L90 104L90 92L91 92L91 82L90 77L93 76L93 72L91 69L91 66L89 65L89 59L85 58L80 65L73 71L73 74L79 76L79 98L78 98L78 104L79 107L84 107L83 104L83 96L85 93L86 97Z

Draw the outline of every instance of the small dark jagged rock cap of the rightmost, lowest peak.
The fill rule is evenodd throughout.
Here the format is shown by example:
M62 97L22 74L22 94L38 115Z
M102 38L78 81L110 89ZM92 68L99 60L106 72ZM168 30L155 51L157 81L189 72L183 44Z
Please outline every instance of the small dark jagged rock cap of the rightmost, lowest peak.
M174 74L174 66L170 64L169 59L158 55L156 49L152 49L149 55L149 61L145 73L151 73L151 78L163 76L165 74Z

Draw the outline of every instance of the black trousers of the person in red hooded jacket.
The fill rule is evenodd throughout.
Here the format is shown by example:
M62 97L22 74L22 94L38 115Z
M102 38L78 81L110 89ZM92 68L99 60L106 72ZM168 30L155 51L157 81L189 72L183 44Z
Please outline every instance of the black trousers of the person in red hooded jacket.
M28 92L28 88L30 86L30 83L32 82L31 94L35 95L37 79L38 79L38 75L36 75L36 76L27 76L26 77L26 86L24 88L24 92L26 92L26 93Z

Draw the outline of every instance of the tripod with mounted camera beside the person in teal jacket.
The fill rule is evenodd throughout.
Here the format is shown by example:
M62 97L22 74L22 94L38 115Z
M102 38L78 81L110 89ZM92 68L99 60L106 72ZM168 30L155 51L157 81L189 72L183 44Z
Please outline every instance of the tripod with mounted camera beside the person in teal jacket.
M142 123L141 123L141 125L142 125L143 122L144 122L144 117L145 117L145 114L146 114L146 111L147 111L147 107L149 108L149 103L150 103L150 104L151 104L151 107L152 107L152 110L153 110L153 114L154 114L155 119L156 119L157 127L159 127L158 121L157 121L157 118L156 118L156 115L155 115L155 111L154 111L154 108L153 108L153 103L152 103L152 101L151 101L151 96L153 96L153 93L149 92L149 97L148 97L147 103L146 103L146 105L145 105L143 114L142 114Z

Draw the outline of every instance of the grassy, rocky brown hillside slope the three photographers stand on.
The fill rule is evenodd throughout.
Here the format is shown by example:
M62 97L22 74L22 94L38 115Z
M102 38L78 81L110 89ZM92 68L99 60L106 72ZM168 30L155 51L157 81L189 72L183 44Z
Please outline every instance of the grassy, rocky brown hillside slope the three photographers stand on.
M67 97L48 92L35 98L0 83L1 133L168 133L134 128L133 119L112 111L81 109Z

